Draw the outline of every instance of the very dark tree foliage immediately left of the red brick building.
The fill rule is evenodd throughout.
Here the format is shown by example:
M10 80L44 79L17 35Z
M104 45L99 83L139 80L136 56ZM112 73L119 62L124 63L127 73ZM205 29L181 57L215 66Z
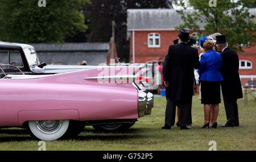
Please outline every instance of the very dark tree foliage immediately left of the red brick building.
M89 25L86 40L89 42L109 42L110 37L112 37L112 20L114 20L118 57L121 58L121 61L128 62L127 9L170 8L171 4L172 0L92 0L92 3L84 8L86 22ZM72 41L72 39L68 41Z

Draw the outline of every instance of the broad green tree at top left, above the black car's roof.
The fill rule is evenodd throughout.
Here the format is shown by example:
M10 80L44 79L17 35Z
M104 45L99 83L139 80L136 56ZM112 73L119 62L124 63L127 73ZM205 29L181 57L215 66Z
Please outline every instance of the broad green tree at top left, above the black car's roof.
M81 6L89 0L0 1L0 40L11 42L64 42L65 37L86 31Z

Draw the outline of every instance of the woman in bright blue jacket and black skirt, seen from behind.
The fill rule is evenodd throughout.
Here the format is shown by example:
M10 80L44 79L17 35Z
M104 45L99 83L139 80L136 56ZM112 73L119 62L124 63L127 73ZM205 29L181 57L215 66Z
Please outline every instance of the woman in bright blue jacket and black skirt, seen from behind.
M198 70L199 80L201 82L201 104L204 104L204 126L209 128L210 123L210 105L213 108L212 120L213 128L217 127L218 104L221 103L220 82L223 77L220 73L222 58L221 54L213 50L213 42L207 40L203 44L206 51L201 56L201 66Z

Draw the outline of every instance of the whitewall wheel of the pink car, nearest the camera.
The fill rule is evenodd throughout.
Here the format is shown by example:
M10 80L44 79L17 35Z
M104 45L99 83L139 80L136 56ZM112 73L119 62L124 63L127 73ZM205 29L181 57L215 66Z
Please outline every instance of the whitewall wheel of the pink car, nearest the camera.
M69 120L29 121L28 128L32 135L40 140L56 140L66 133Z

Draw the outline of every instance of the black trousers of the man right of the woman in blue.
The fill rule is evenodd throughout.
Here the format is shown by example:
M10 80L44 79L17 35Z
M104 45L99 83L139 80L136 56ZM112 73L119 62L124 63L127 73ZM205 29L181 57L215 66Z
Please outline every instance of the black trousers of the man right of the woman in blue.
M223 100L227 123L233 126L239 126L237 99L230 100L226 97L226 94L223 93Z

